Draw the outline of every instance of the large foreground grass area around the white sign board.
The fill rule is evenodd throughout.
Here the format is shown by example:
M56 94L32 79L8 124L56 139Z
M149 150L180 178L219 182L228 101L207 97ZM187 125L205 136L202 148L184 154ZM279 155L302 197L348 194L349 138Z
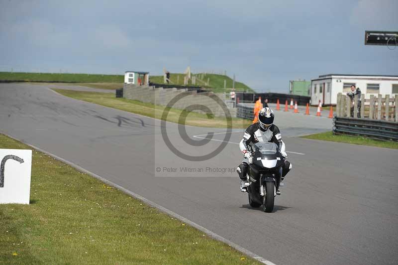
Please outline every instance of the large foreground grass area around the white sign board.
M30 149L2 134L0 147ZM71 166L32 154L31 204L0 205L0 264L256 263Z

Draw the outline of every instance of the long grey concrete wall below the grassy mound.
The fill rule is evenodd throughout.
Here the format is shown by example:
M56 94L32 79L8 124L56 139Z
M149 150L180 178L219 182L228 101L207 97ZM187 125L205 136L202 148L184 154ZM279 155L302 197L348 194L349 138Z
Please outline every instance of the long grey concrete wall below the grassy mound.
M211 110L211 113L216 117L225 117L221 106L209 95L216 95L223 101L223 94L214 94L212 92L197 93L196 91L187 91L186 89L176 88L154 88L148 86L136 86L132 84L124 84L123 98L148 102L155 105L167 106L167 104L181 93L187 93L188 96L177 101L173 108L185 109L191 105L203 105ZM236 109L228 108L231 117L236 117ZM203 113L195 110L194 112Z

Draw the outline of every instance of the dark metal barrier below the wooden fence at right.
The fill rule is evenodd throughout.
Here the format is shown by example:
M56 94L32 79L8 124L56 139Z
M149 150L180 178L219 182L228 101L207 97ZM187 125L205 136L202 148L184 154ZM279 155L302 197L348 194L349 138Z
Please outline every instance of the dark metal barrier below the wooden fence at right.
M362 135L379 140L398 141L398 123L382 120L334 117L333 133Z

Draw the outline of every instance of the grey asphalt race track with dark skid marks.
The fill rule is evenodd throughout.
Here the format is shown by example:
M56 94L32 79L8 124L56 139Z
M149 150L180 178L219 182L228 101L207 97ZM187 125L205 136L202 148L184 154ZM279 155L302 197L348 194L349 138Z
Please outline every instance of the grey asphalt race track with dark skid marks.
M174 155L160 123L63 97L44 85L0 84L0 132L71 161L277 264L398 264L398 150L302 139L330 130L327 118L276 112L294 170L273 213L248 206L235 172L164 172L163 168L234 168L242 156L233 130L207 161ZM278 120L279 119L279 120ZM225 130L187 127L192 146L167 124L178 150L205 154ZM193 137L196 135L197 137ZM189 140L187 140L189 141ZM156 172L155 168L161 171ZM174 177L167 177L174 176Z

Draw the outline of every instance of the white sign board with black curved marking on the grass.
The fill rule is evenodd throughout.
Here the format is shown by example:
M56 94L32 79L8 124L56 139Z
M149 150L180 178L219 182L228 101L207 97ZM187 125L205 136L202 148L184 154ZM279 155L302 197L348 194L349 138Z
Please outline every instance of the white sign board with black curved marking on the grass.
M0 149L0 204L29 204L32 150Z

